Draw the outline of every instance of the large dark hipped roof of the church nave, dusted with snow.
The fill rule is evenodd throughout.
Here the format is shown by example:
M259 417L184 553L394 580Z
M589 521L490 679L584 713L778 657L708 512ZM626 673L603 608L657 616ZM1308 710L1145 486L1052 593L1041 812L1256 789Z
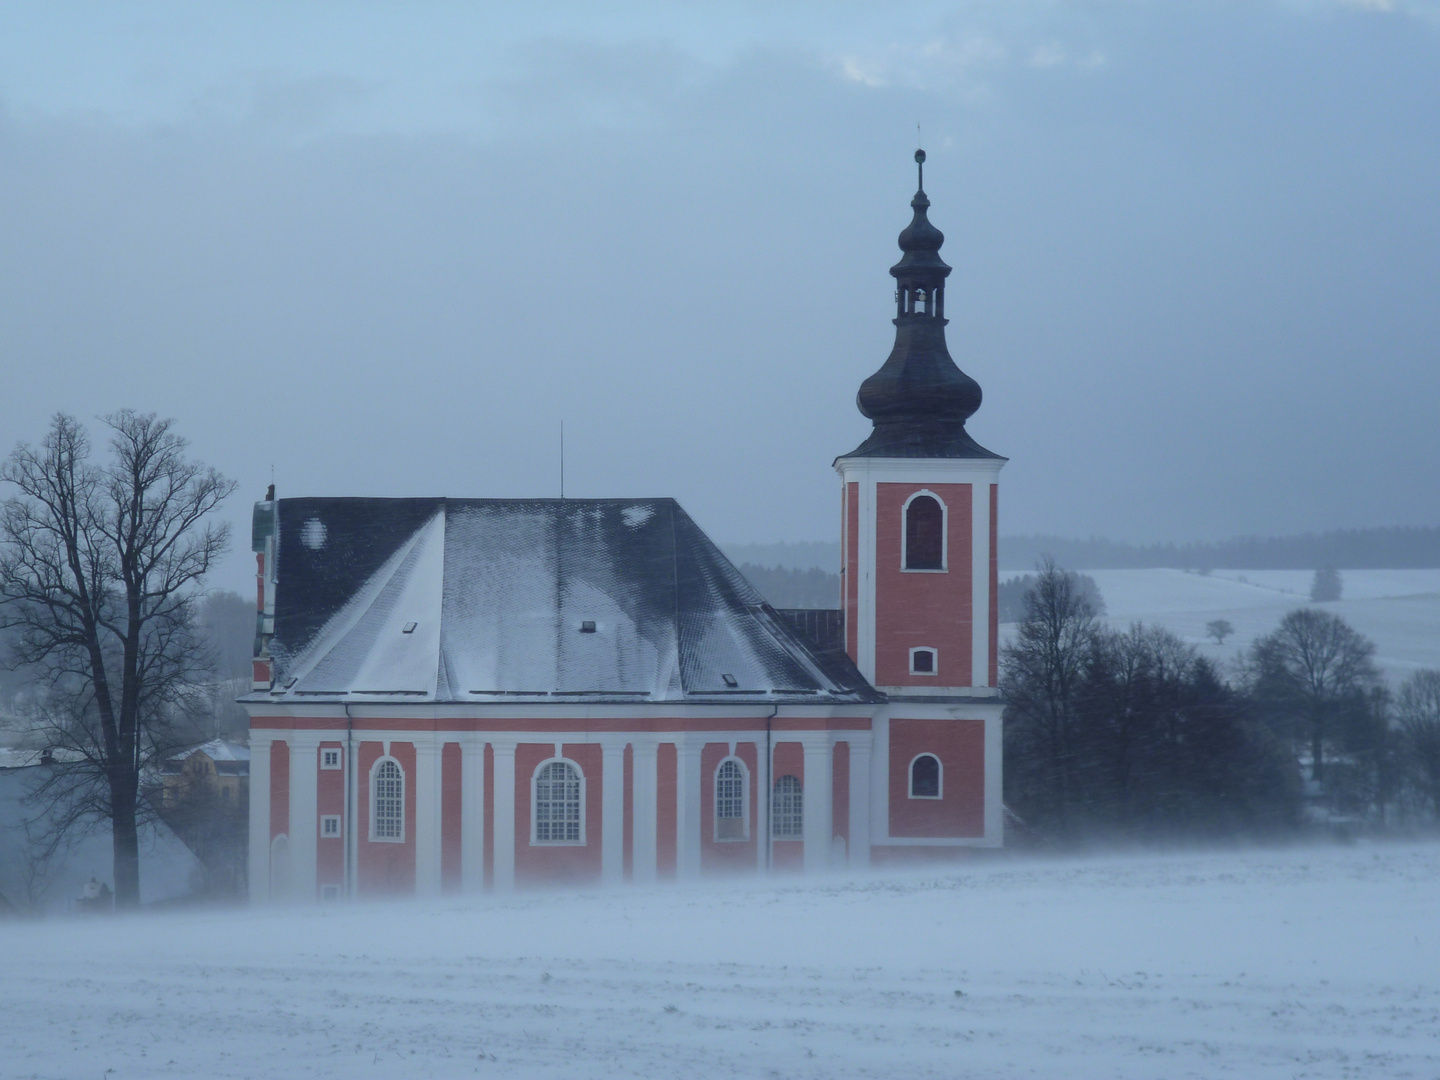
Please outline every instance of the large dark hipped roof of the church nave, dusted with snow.
M848 660L816 655L674 500L276 505L275 683L253 697L883 700Z

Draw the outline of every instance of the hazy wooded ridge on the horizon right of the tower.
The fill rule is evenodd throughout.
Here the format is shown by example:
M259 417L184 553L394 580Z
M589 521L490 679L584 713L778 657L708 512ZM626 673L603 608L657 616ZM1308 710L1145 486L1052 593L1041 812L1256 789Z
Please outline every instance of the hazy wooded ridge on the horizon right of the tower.
M1440 527L1338 528L1305 536L1243 536L1204 544L1128 544L1060 536L1001 537L999 564L1032 570L1051 556L1086 570L1426 570L1440 567Z

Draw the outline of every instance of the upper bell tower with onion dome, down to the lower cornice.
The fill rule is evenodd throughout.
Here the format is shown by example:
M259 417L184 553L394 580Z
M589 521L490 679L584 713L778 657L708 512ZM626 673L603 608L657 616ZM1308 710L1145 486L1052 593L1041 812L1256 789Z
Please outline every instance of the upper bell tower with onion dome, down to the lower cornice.
M835 459L842 481L845 651L891 698L985 697L998 681L995 531L1005 458L965 422L981 387L945 344L945 235L930 225L924 151L900 233L896 343L855 403L870 436Z

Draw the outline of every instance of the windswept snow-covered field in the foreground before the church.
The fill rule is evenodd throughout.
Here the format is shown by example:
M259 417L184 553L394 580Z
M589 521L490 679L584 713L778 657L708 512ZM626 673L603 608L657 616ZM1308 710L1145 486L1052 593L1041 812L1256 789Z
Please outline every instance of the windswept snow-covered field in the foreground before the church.
M1440 845L0 923L4 1077L1440 1076Z

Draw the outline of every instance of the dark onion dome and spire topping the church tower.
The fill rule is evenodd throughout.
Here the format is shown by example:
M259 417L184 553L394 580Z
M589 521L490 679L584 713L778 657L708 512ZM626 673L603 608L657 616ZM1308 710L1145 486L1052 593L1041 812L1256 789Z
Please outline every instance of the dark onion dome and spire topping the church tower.
M914 216L900 233L904 252L890 268L896 279L896 343L890 357L860 386L855 405L874 431L851 458L998 458L965 431L981 408L981 386L956 367L945 344L945 233L930 225L924 194L924 151L914 153L920 187Z

